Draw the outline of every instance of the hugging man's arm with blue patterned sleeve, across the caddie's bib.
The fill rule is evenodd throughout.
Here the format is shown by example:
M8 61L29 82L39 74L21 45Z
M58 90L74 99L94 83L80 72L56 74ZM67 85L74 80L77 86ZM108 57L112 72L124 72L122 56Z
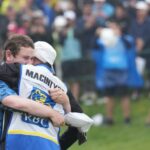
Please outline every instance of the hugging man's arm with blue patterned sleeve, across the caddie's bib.
M0 81L0 101L4 106L24 111L35 116L50 118L57 126L64 124L64 117L51 107L17 96L17 94L3 81Z

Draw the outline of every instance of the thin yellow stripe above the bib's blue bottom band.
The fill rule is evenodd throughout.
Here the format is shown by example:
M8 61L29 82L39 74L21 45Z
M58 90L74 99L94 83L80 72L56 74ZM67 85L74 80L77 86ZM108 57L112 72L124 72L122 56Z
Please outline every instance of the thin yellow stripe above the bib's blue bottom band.
M31 135L39 136L39 137L48 139L48 140L53 141L54 143L58 144L57 140L55 140L52 137L47 136L45 134L39 133L39 132L31 132L31 131L24 131L24 130L9 130L8 134L23 134L23 135L29 135L29 136L31 136Z

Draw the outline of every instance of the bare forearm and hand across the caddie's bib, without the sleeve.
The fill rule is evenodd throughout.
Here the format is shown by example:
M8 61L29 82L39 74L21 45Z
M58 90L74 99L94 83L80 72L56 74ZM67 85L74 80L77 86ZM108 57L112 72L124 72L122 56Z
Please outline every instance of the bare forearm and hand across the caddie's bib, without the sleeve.
M53 110L50 106L43 105L33 100L22 98L17 95L10 95L2 100L2 104L34 116L49 118L54 126L64 125L64 117L60 113Z

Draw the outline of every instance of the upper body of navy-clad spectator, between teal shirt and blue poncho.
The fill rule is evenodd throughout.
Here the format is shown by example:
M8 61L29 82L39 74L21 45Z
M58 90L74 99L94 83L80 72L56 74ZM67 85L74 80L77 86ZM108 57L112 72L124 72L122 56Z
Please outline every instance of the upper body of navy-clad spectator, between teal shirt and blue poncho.
M83 58L91 57L96 27L96 20L92 14L92 6L90 3L85 3L82 9L82 16L78 18L76 25L76 34L81 41Z

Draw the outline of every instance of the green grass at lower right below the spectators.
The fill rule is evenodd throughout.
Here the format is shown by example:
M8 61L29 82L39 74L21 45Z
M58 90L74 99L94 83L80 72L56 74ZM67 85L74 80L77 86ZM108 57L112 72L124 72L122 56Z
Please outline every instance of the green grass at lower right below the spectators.
M82 107L89 116L104 113L104 105ZM93 126L88 132L88 141L81 146L75 143L69 150L149 150L150 127L145 126L145 119L150 112L150 100L132 101L131 109L132 123L127 126L123 123L118 101L114 112L115 125Z

